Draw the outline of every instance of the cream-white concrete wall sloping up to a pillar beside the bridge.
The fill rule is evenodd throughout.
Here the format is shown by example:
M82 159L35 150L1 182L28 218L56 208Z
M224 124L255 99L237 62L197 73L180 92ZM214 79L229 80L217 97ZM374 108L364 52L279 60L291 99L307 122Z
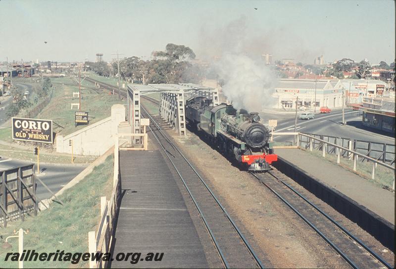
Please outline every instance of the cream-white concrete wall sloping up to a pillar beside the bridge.
M114 145L118 125L124 121L124 105L115 104L110 117L66 136L56 135L56 152L71 154L69 140L72 140L73 154L100 156Z

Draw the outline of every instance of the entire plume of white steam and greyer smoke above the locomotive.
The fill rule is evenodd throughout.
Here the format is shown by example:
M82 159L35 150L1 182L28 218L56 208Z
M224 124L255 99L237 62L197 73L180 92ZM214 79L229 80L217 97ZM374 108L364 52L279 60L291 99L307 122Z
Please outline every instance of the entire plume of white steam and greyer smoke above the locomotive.
M277 75L261 58L276 47L276 35L255 25L241 16L220 28L203 27L198 49L201 56L219 59L213 67L217 78L224 82L223 94L234 108L249 112L261 112L276 104L271 95Z

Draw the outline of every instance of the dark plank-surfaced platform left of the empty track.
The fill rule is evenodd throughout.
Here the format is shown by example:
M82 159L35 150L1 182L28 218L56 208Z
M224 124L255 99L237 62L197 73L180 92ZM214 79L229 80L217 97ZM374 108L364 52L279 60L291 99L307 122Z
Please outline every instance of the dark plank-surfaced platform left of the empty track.
M136 264L131 258L114 259L111 267L207 268L197 230L161 153L121 151L120 172L122 198L113 253L142 255ZM145 261L148 253L163 253L162 261Z

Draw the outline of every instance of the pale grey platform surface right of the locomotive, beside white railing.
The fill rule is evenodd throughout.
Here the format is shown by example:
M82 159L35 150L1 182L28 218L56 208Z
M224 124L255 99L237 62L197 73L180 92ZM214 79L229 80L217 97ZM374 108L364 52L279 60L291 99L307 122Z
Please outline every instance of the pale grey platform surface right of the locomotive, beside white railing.
M395 193L301 149L276 149L286 161L395 224Z

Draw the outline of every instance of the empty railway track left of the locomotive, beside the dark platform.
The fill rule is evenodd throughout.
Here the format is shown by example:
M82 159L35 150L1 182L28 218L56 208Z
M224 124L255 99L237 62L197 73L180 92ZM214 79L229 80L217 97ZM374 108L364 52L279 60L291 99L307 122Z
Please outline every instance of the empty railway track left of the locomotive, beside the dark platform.
M222 206L197 170L162 130L156 119L142 106L150 118L149 130L174 167L191 197L198 214L225 268L264 268L241 230Z

